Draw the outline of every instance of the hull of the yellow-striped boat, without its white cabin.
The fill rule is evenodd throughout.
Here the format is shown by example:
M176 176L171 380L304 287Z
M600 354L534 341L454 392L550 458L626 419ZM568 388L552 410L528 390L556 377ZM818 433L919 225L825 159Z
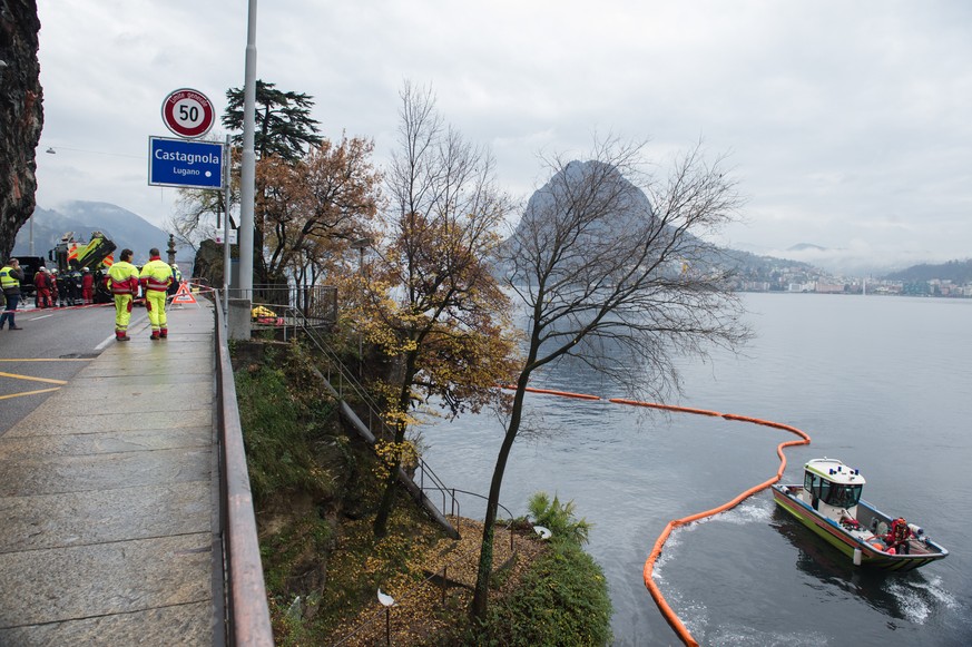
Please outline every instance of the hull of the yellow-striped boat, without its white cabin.
M846 555L851 560L854 560L855 550L860 550L860 563L862 567L907 571L943 559L949 555L948 550L930 540L912 541L913 549L911 555L892 555L884 550L878 550L871 543L845 530L833 519L818 513L793 493L802 488L802 486L775 484L773 486L773 498L780 508L793 514L801 523L813 530L818 537ZM862 500L860 504L867 507L876 516L886 519L885 514L870 506L866 501Z

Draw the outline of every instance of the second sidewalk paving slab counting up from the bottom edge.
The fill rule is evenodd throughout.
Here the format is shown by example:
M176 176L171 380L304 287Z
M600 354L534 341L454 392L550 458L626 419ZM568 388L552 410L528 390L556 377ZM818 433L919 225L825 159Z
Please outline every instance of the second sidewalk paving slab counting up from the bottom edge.
M212 552L198 532L0 553L0 627L209 600Z

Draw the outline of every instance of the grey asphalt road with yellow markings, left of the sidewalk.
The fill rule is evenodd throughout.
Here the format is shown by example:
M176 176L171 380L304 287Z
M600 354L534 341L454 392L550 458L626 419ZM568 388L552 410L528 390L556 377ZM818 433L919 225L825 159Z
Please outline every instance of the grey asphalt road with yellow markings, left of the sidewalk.
M76 306L17 313L20 331L0 331L0 435L70 382L115 342L115 307ZM131 313L132 334L145 310ZM145 333L147 334L147 333Z

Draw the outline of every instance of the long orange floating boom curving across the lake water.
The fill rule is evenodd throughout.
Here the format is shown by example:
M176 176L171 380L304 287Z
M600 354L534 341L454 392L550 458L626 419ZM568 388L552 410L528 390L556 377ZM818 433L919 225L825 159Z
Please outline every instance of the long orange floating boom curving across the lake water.
M511 386L505 386L507 389L512 389ZM582 393L569 393L569 392L559 392L559 391L550 391L546 389L530 389L527 391L531 393L546 393L551 395L563 395L568 398L583 398L586 400L601 400L601 398L597 395L586 395ZM704 512L696 512L695 514L689 514L688 517L683 517L680 519L672 519L665 526L665 530L661 531L661 535L658 536L658 539L655 541L655 546L651 548L651 552L648 556L648 559L645 561L645 569L642 571L642 577L645 579L645 586L648 588L648 592L651 594L651 598L655 600L656 606L658 606L658 610L661 611L661 615L665 616L668 625L675 630L678 635L679 639L689 645L691 647L698 647L698 641L693 638L689 630L685 627L685 624L678 617L678 615L671 609L668 602L665 599L665 596L661 595L661 589L658 588L658 585L655 584L655 579L651 577L655 570L655 562L661 557L661 549L665 547L665 542L668 541L668 537L671 535L671 531L680 526L686 526L691 523L693 521L698 521L699 519L705 519L707 517L715 517L719 512L725 512L726 510L730 510L752 497L757 492L760 492L772 486L773 483L779 481L783 478L783 471L786 469L786 455L784 455L783 450L787 447L799 445L799 444L809 444L811 438L799 429L795 427L791 427L788 424L783 424L779 422L773 422L772 420L763 420L759 418L752 418L749 415L738 415L735 413L719 413L718 411L709 411L708 409L694 409L689 406L676 406L674 404L660 404L658 402L640 402L638 400L626 400L622 398L610 398L608 402L613 404L627 404L629 406L646 406L649 409L659 409L662 411L671 411L675 413L693 413L695 415L710 415L713 418L723 418L725 420L733 420L736 422L748 422L750 424L762 424L763 427L770 427L774 429L780 429L783 431L788 431L789 433L796 434L799 437L799 440L788 440L780 442L776 445L776 455L779 457L779 469L776 470L776 476L772 479L767 479L763 481L758 486L753 486L748 490L739 493L735 498L726 501L721 506L717 506L710 510L706 510Z

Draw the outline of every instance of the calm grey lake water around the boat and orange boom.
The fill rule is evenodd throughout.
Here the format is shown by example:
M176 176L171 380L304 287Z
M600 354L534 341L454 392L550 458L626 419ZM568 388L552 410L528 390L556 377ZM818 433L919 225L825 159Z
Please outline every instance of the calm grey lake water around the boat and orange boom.
M776 510L769 491L676 530L656 581L703 645L972 645L972 301L747 294L745 356L685 366L672 404L794 425L784 482L803 463L860 468L864 499L904 516L951 555L904 575L851 559ZM624 396L576 369L533 386ZM537 433L518 439L501 502L539 490L593 522L588 550L610 586L616 645L679 645L641 572L670 519L707 510L776 473L792 434L690 414L528 396ZM489 491L502 437L493 415L423 428L425 459L450 487ZM477 509L479 506L479 509ZM477 517L482 506L463 502Z

